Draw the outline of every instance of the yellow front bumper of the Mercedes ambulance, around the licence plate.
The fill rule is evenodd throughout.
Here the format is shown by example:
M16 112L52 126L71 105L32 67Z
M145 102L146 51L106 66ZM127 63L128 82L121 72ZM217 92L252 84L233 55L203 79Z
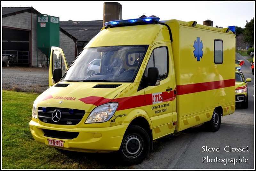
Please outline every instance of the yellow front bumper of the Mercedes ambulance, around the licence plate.
M36 141L48 144L48 139L62 140L63 147L57 147L64 150L76 152L113 152L120 148L123 135L128 125L117 125L104 128L53 128L40 125L31 120L29 128ZM73 139L55 138L45 136L44 129L53 132L76 132L79 133ZM49 133L48 133L49 135Z

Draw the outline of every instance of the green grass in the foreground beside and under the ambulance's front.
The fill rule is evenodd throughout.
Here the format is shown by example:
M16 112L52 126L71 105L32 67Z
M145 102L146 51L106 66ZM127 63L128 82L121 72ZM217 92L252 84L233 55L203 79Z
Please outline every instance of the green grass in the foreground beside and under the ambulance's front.
M29 121L37 96L2 90L2 169L132 169L113 154L60 151L36 142Z

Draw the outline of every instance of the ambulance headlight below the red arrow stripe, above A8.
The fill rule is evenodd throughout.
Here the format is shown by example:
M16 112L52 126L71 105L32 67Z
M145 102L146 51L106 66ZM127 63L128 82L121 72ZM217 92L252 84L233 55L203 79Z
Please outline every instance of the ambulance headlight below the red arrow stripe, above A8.
M84 123L100 123L108 121L116 112L118 103L107 103L92 110Z

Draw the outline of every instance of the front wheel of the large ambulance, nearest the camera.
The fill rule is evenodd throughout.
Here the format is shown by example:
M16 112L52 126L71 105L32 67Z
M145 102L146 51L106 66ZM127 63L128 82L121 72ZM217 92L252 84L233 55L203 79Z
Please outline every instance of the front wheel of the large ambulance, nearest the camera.
M127 128L118 151L120 159L126 165L141 163L150 150L150 138L147 131L140 126L131 125Z

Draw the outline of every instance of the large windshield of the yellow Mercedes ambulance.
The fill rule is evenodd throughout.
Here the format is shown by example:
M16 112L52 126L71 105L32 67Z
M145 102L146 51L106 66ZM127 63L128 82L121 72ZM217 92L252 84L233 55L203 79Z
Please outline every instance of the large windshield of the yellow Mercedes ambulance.
M85 48L60 81L133 82L147 45Z

